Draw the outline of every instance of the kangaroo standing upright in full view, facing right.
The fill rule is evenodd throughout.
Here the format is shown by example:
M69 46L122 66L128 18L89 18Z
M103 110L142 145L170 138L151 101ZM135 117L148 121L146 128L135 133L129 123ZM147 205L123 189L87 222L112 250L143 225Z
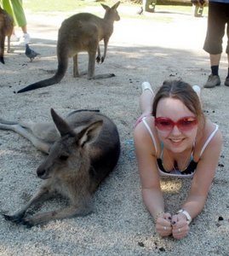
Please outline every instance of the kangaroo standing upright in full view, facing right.
M112 36L113 23L115 20L120 20L117 13L119 3L120 2L117 2L112 8L101 3L102 7L106 9L103 19L92 14L81 13L64 20L58 34L58 67L56 73L50 79L44 79L18 90L18 93L59 83L65 76L68 58L70 57L73 57L73 76L79 77L77 55L82 51L89 53L88 79L106 79L113 77L113 73L95 76L94 66L95 60L99 63L103 62L106 58L106 49L109 38ZM99 44L102 39L104 40L104 55L100 56ZM97 50L98 56L96 57Z

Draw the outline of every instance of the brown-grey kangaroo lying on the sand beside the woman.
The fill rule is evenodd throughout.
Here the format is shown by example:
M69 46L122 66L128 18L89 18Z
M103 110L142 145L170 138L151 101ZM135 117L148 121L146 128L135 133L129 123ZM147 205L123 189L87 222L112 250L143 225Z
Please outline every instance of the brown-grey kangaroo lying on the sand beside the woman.
M52 123L17 123L0 119L0 129L26 137L49 154L37 168L45 180L25 207L4 218L31 227L56 218L71 218L91 211L92 194L117 165L120 141L111 119L93 110L77 110L66 120L51 109ZM47 200L57 192L69 200L69 206L52 212L26 216L29 207ZM27 214L28 215L28 214Z

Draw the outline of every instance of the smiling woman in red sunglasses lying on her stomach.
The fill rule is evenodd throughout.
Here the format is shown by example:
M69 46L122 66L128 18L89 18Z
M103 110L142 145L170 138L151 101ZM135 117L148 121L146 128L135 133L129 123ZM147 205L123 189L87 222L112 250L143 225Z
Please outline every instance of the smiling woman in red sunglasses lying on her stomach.
M203 114L200 89L181 80L164 81L154 95L142 84L142 114L135 125L143 201L160 236L181 239L192 218L202 212L218 166L222 136L218 125ZM192 177L185 203L164 212L160 176Z

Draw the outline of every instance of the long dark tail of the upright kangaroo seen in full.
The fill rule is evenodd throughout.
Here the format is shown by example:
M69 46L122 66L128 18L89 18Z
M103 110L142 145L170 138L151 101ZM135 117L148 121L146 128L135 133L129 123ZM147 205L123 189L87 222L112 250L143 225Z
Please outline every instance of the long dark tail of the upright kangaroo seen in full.
M38 88L47 87L52 84L58 84L61 81L61 79L63 79L63 77L65 76L66 68L67 68L67 63L66 63L66 65L58 66L57 72L54 74L54 76L52 78L44 79L37 83L30 84L30 85L22 88L21 90L18 90L17 93L25 92L28 90L36 90Z

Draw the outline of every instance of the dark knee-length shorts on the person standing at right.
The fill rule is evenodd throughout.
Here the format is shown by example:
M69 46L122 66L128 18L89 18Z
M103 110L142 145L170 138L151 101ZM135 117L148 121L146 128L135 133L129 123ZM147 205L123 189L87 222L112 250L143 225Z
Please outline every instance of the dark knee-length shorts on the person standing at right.
M209 2L208 30L203 49L209 54L222 53L223 37L227 34L226 54L229 54L229 3Z

